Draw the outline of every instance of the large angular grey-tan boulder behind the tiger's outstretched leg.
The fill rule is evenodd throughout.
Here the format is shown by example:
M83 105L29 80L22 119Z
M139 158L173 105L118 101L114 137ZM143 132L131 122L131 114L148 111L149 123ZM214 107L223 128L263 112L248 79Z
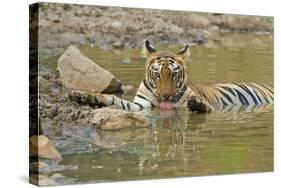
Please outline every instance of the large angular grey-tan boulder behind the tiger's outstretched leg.
M119 80L83 55L75 46L69 46L60 56L57 70L63 85L69 89L94 93L122 91Z

